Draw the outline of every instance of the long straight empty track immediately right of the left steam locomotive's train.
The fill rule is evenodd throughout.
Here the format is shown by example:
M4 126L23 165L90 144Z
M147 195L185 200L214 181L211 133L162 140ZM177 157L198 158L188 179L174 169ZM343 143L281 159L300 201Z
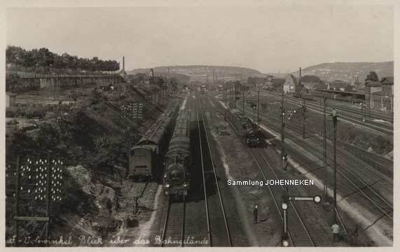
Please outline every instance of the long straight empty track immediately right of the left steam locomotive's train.
M204 116L200 104L197 104L197 106L198 134L200 137L200 154L209 246L233 246L232 240L230 239L225 209L223 207L223 200L219 190L214 161L209 147L209 138L205 126L207 118Z

